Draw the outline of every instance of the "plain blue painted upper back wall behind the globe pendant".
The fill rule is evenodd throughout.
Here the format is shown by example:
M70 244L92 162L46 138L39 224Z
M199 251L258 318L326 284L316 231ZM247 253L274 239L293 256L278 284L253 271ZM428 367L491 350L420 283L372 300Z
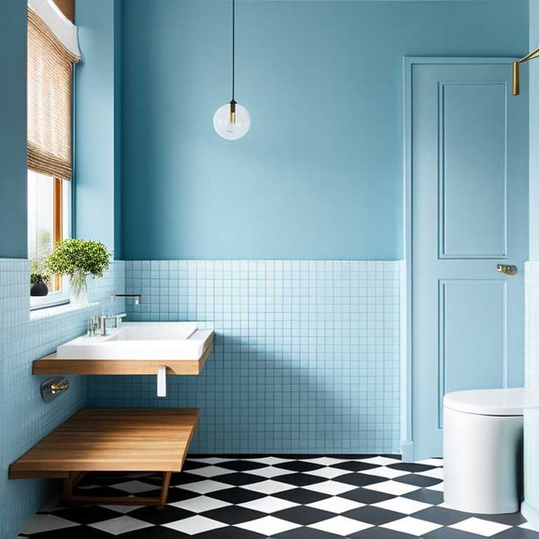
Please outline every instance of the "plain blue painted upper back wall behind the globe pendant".
M123 14L123 241L136 258L401 258L403 55L512 56L527 0L130 0Z

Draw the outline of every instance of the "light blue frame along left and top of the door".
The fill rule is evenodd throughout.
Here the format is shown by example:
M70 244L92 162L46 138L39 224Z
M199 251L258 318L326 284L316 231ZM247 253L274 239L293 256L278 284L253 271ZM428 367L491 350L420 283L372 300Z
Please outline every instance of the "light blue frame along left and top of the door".
M459 58L436 56L404 56L403 62L403 251L404 266L401 272L401 455L404 462L413 462L413 205L412 205L412 71L414 65L470 65L507 64L511 73L512 62L517 58Z

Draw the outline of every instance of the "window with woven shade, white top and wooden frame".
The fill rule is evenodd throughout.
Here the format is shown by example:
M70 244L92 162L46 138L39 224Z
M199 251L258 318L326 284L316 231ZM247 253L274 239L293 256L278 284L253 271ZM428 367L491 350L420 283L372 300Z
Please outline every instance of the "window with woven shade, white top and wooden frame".
M73 65L79 60L72 22L53 0L28 0L28 257L32 274L42 274L46 257L71 232L72 81ZM32 308L69 300L65 277L49 276L46 284L47 295L31 293Z

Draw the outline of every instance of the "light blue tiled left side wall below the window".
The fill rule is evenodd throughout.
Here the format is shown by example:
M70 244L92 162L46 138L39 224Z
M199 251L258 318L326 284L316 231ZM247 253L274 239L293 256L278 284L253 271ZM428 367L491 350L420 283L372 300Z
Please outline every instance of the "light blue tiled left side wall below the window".
M51 404L41 400L46 376L32 375L32 361L86 331L101 299L124 290L124 262L114 262L103 279L90 281L84 307L29 310L29 265L25 259L0 259L0 538L13 539L55 487L53 481L8 481L8 466L54 427L86 404L84 377L69 377L71 387ZM119 305L121 308L122 305Z

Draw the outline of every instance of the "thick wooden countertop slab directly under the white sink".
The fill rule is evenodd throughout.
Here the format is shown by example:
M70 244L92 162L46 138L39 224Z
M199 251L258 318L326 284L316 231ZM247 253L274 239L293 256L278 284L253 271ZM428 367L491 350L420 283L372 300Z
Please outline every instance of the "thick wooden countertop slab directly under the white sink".
M157 374L166 365L167 374L200 374L212 351L213 336L200 359L58 359L56 353L36 359L34 374Z

